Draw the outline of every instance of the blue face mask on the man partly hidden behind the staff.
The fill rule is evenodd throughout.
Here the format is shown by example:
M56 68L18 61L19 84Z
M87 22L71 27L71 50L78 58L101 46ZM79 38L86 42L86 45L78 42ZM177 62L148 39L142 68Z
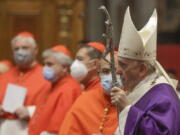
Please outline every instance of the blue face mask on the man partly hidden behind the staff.
M111 92L112 89L112 75L108 74L108 75L101 75L101 85L104 89L104 91L109 94ZM117 82L120 86L122 86L122 82L121 82L121 78L119 75L116 75L117 78Z

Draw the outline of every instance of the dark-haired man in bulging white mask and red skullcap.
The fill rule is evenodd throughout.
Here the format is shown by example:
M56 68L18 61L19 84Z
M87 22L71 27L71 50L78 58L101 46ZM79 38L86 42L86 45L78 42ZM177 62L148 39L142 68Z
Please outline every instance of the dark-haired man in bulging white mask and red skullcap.
M71 65L71 75L76 78L86 91L101 88L98 76L100 59L105 47L99 42L83 44L76 53Z

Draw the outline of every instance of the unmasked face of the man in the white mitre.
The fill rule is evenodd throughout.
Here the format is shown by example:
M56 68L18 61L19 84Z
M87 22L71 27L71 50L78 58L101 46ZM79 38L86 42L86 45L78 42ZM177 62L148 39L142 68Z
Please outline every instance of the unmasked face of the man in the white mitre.
M140 81L140 64L135 60L118 57L117 74L120 74L124 88L132 90Z

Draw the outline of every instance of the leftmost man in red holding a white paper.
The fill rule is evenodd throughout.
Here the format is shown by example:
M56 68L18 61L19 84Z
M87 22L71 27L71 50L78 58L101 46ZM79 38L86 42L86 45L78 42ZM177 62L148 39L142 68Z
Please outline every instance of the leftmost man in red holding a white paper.
M42 76L42 66L36 60L37 44L31 33L19 33L13 38L11 45L15 66L0 76L0 134L26 135L28 119L44 92L50 88L50 83ZM18 89L8 89L10 86ZM3 103L7 91L16 93L15 91L20 91L21 88L26 89L23 106L15 108L13 112L5 109ZM11 106L17 104L16 100L12 100L15 97L17 95L8 101L13 102Z

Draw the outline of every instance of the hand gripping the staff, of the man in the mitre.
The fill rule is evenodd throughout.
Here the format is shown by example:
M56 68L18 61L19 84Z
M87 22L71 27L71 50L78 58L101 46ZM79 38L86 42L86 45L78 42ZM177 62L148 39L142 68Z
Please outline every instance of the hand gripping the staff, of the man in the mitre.
M119 87L113 87L110 95L111 103L116 105L119 111L122 111L126 106L129 105L127 94L123 89Z

